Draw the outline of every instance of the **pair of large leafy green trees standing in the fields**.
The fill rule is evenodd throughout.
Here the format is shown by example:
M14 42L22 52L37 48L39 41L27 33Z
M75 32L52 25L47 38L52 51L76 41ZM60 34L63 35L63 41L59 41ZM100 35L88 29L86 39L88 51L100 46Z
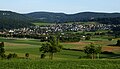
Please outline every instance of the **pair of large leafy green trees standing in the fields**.
M42 44L40 51L42 52L41 58L45 58L45 54L49 53L49 57L53 59L54 53L60 52L62 46L59 44L58 39L55 36L50 37L50 41ZM99 59L99 54L101 53L102 47L91 43L89 46L86 46L84 52L87 54L87 57L96 57Z

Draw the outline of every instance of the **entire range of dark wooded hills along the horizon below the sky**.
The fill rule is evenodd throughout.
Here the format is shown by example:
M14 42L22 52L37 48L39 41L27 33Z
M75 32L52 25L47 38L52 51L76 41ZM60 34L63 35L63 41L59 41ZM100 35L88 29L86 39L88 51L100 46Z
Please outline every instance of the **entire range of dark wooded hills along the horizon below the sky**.
M81 12L76 14L33 12L20 14L0 11L0 29L33 26L34 22L64 23L96 21L104 24L120 24L120 13Z

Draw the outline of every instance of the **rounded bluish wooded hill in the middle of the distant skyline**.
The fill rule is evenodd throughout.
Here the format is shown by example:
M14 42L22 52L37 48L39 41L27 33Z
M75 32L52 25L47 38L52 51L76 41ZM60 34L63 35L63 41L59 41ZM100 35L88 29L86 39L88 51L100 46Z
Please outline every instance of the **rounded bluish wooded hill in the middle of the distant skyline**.
M28 17L33 17L35 22L65 22L68 18L64 13L52 13L52 12L34 12L26 14Z

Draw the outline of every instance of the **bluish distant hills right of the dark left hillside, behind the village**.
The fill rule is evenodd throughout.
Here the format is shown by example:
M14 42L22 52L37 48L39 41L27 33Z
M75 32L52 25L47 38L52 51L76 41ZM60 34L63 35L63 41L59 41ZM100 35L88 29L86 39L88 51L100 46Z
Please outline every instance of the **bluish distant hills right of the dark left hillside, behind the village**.
M82 12L77 14L64 14L64 13L52 13L52 12L33 12L26 14L28 17L35 18L35 22L88 22L97 21L104 18L117 18L120 17L120 13L96 13L96 12ZM101 21L102 22L102 21ZM119 21L118 21L119 22ZM120 24L120 23L119 23Z

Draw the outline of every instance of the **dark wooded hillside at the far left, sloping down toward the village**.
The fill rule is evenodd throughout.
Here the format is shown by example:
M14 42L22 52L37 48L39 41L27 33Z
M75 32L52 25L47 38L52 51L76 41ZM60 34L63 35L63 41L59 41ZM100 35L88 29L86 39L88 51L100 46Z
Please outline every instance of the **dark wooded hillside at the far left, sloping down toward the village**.
M0 29L13 29L28 27L31 18L11 11L0 11Z

